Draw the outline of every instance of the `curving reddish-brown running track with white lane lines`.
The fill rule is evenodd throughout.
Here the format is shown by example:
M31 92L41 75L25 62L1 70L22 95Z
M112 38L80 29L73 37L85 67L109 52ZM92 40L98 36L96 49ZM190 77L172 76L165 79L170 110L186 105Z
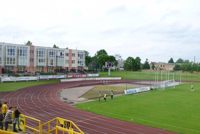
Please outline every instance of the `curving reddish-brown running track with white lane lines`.
M121 81L122 82L122 81ZM171 134L173 132L111 119L85 112L60 100L61 89L102 84L101 81L68 82L24 88L0 93L9 106L18 106L25 114L46 122L55 117L74 121L87 134Z

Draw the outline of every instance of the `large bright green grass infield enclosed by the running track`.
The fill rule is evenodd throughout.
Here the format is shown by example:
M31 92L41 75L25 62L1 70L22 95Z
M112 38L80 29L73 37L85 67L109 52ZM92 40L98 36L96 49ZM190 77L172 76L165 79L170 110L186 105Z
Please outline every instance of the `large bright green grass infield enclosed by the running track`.
M120 120L164 128L183 134L200 133L200 84L190 84L92 101L76 107Z

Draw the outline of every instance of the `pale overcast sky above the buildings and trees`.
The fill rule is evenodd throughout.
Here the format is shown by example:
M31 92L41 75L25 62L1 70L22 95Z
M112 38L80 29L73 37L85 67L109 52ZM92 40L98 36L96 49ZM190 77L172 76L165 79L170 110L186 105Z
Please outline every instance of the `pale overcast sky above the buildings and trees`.
M200 0L0 0L0 42L200 61Z

